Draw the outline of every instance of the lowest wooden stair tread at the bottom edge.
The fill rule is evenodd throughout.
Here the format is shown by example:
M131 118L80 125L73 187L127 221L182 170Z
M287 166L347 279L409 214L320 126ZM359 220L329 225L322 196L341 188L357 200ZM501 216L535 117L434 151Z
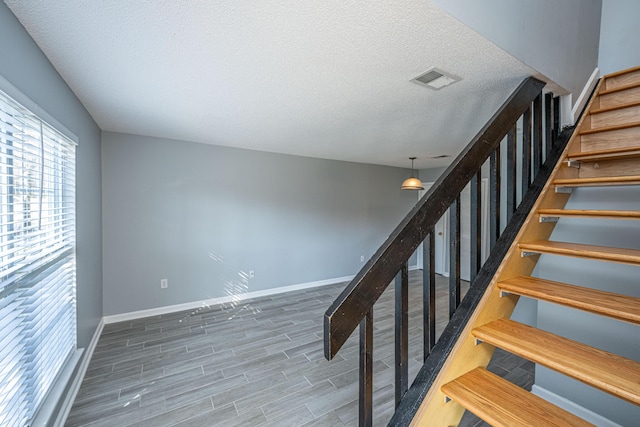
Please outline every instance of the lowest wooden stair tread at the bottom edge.
M482 368L443 385L442 392L495 427L592 426Z

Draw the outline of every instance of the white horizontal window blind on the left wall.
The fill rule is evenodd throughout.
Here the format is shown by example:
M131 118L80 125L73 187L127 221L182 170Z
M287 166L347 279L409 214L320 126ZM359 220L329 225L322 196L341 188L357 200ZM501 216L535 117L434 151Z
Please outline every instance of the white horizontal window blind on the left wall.
M28 426L76 350L75 143L0 91L0 425Z

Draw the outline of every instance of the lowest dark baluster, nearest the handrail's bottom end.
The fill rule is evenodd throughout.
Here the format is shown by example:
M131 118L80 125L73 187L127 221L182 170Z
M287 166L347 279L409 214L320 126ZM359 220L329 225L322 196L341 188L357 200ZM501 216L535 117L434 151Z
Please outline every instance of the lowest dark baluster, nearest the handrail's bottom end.
M359 425L373 425L373 310L360 322Z

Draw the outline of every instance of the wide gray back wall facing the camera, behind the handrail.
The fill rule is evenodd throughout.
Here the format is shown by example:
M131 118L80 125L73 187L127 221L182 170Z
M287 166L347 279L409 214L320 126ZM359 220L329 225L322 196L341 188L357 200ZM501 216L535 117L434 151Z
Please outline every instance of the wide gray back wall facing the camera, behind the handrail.
M102 171L105 315L353 275L416 202L407 169L108 132Z

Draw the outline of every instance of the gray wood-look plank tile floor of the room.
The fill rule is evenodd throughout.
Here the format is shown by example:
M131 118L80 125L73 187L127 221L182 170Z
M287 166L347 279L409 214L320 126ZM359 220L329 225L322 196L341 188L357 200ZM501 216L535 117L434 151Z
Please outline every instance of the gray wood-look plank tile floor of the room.
M422 360L421 272L410 272L409 374ZM66 426L355 426L357 330L333 361L323 315L346 283L105 326ZM463 284L463 291L466 290ZM394 399L393 286L374 307L374 424ZM437 286L437 333L448 286ZM533 367L496 353L524 387ZM461 426L481 422L465 415Z

